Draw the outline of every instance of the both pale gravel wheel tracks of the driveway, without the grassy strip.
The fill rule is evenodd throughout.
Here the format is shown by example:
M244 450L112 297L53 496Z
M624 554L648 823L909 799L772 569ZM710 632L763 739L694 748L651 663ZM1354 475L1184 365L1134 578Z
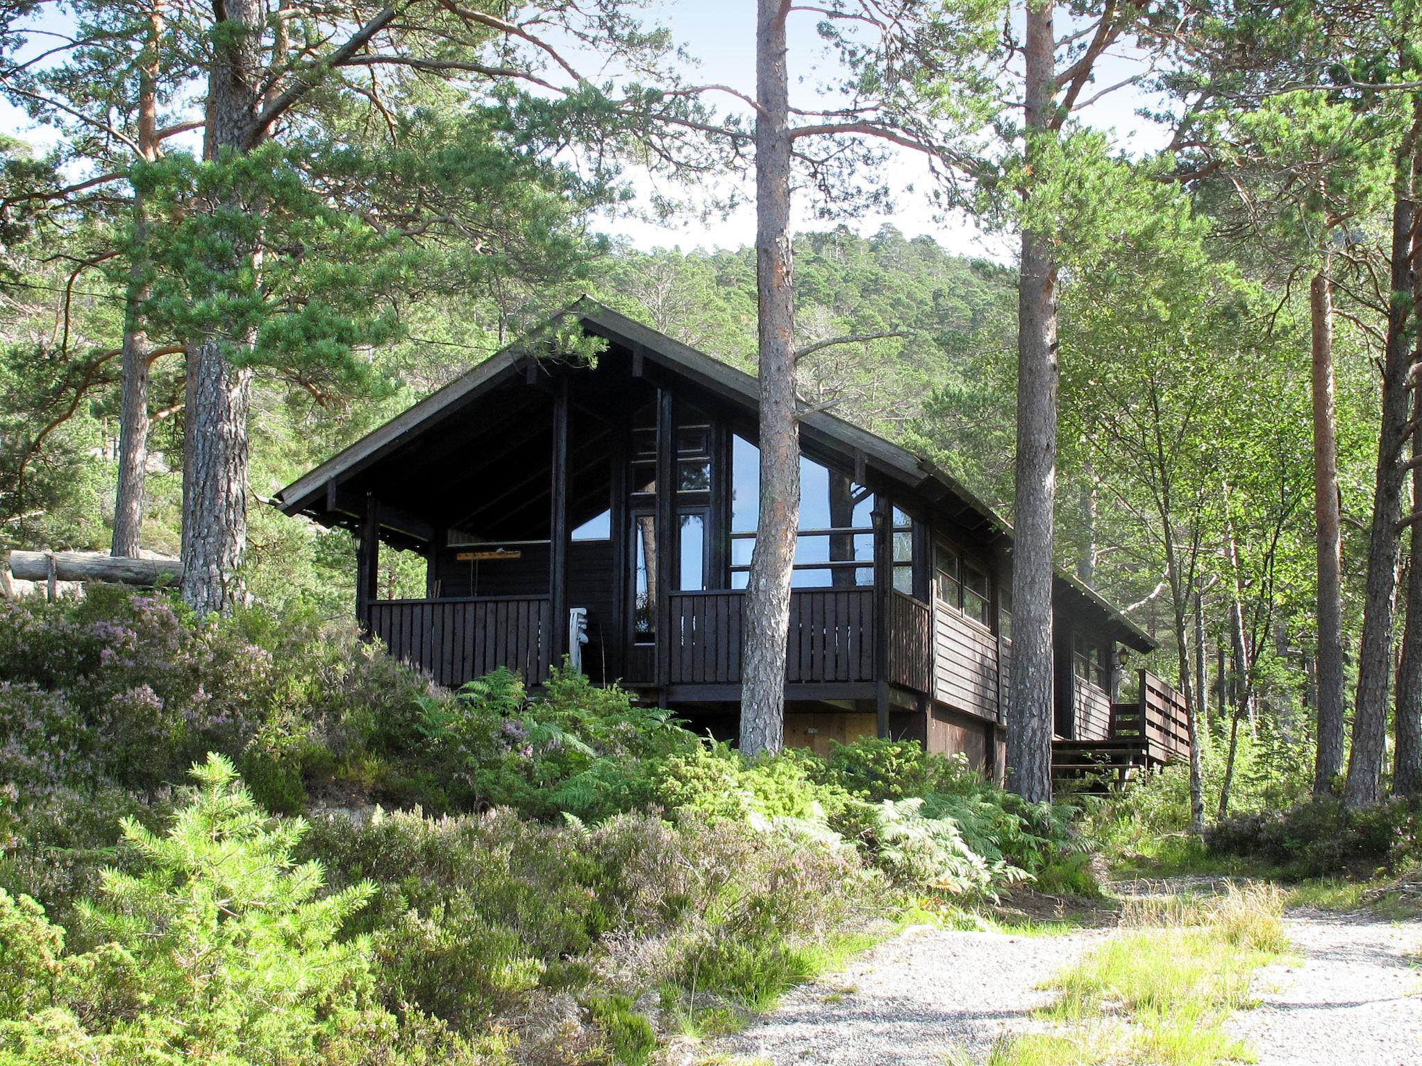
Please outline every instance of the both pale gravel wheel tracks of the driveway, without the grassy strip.
M1303 962L1257 971L1261 1006L1229 1023L1258 1066L1422 1062L1422 924L1294 911L1287 925ZM1109 935L916 927L795 989L717 1050L775 1066L939 1066L948 1052L981 1063L995 1039L1031 1026L1049 999L1038 985Z

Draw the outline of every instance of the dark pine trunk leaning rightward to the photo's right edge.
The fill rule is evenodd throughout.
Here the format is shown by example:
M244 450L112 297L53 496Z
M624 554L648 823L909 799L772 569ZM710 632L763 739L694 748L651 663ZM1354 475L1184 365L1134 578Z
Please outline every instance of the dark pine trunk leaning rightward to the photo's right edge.
M1394 156L1392 270L1388 308L1386 354L1382 365L1382 426L1378 434L1378 470L1368 537L1368 583L1362 605L1362 647L1358 652L1358 701L1352 716L1352 750L1344 804L1352 809L1376 803L1382 787L1386 750L1388 688L1392 678L1392 634L1398 563L1402 546L1402 489L1406 469L1408 378L1412 362L1413 318L1412 262L1418 205L1418 138L1422 135L1422 97L1413 99L1412 126Z

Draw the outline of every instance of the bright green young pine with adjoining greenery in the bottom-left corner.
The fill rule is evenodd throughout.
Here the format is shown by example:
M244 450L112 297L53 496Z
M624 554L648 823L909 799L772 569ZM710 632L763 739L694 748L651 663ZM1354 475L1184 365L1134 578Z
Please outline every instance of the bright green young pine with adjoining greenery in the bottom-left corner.
M341 938L368 883L323 891L297 864L301 822L273 823L210 756L195 795L155 834L124 822L135 874L104 874L78 917L97 947L28 897L0 891L0 1059L179 1063L398 1063L408 1033L375 1001L370 942ZM415 1045L474 1062L449 1032L421 1023Z

